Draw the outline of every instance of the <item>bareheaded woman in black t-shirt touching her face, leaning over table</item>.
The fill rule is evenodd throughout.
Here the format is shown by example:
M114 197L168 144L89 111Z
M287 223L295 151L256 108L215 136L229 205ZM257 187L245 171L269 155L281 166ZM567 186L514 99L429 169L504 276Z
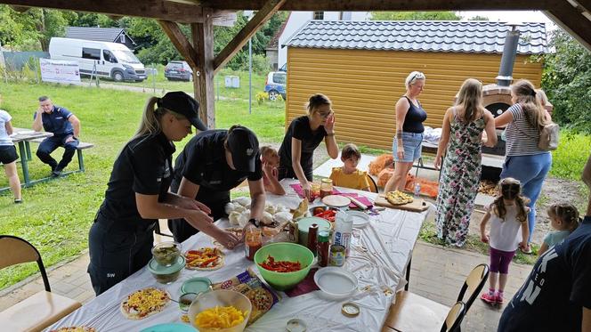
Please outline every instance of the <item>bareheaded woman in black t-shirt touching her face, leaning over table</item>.
M307 115L296 117L279 148L279 180L296 178L304 194L311 198L312 165L314 150L320 142L327 145L330 158L338 157L335 139L335 113L332 101L322 93L312 94L306 104Z

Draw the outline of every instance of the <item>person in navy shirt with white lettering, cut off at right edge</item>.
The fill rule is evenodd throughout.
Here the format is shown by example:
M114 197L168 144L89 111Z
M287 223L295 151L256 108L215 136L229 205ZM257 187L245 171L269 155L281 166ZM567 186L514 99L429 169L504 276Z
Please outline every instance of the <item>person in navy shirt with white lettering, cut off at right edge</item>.
M591 156L582 178L591 190ZM591 192L583 222L538 258L507 304L498 332L509 331L591 331Z

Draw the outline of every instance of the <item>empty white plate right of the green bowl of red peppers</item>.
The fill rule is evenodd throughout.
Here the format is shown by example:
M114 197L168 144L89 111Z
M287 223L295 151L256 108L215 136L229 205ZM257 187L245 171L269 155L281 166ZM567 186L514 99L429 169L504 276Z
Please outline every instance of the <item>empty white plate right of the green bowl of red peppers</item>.
M321 268L314 274L314 282L320 288L321 295L331 300L350 297L357 291L357 277L336 266Z

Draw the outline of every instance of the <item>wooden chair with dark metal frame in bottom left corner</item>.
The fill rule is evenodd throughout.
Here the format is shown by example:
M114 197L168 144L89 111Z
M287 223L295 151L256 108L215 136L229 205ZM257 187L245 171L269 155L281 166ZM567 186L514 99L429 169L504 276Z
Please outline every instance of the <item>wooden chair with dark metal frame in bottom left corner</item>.
M25 239L0 235L0 269L20 263L36 262L45 290L0 312L5 331L41 331L82 306L79 302L51 292L45 266L36 247Z

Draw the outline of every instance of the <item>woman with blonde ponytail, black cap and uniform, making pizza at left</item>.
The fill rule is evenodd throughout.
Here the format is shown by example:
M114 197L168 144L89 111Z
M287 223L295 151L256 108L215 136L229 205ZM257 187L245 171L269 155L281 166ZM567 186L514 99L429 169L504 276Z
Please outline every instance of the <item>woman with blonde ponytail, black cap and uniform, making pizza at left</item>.
M172 142L190 134L191 125L207 129L198 119L198 102L188 94L151 97L140 128L117 156L88 239L88 273L97 296L150 261L152 230L159 218L182 217L206 233L216 228L206 206L168 192ZM224 245L233 247L238 241L234 237Z

